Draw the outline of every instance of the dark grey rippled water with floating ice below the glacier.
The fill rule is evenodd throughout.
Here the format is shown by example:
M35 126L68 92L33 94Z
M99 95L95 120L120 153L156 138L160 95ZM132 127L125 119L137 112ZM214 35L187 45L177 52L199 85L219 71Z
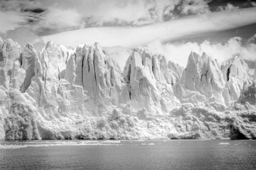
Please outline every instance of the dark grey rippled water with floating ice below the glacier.
M0 141L0 170L255 170L255 140Z

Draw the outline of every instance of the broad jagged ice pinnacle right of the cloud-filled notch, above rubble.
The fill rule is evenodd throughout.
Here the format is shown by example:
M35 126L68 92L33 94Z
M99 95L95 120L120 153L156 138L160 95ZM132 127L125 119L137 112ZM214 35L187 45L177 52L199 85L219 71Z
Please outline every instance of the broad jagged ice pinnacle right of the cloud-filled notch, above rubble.
M188 64L182 74L181 87L185 90L181 99L193 102L230 102L222 72L216 60L191 52ZM190 91L190 92L189 92ZM188 92L191 93L188 96Z

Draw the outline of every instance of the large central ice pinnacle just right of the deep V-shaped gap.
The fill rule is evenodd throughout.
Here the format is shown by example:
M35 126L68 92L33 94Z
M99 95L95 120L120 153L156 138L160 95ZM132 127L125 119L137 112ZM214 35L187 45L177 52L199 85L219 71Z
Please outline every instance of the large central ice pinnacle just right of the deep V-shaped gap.
M121 101L135 110L146 109L151 114L161 115L180 106L172 89L177 79L168 69L164 56L135 50L126 62L123 76L126 86Z

